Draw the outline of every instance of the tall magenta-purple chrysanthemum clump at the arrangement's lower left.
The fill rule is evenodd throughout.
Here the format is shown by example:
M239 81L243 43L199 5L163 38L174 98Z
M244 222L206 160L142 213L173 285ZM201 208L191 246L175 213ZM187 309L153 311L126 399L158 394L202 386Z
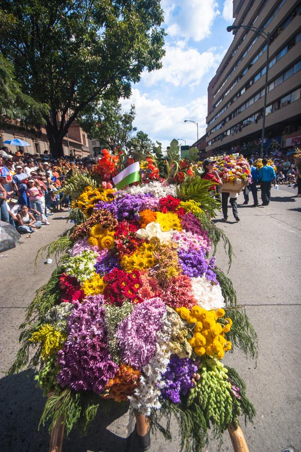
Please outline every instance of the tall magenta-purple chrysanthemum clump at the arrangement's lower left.
M117 372L106 344L105 305L102 295L87 297L72 309L69 335L58 352L58 380L75 391L100 394Z

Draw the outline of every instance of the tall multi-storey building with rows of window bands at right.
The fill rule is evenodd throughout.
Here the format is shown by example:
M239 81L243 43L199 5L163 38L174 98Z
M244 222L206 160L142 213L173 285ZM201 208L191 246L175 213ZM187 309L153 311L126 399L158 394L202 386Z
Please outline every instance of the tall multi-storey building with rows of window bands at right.
M301 142L301 2L234 0L234 26L270 34L265 139ZM228 152L261 137L267 42L253 31L234 39L208 86L206 151Z

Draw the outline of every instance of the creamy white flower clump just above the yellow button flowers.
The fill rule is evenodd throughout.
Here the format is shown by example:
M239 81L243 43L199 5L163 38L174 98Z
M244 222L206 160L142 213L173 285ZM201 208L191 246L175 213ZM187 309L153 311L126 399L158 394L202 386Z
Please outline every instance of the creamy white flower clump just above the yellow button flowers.
M210 311L225 306L222 289L217 284L211 284L205 276L191 278L192 292L198 305Z

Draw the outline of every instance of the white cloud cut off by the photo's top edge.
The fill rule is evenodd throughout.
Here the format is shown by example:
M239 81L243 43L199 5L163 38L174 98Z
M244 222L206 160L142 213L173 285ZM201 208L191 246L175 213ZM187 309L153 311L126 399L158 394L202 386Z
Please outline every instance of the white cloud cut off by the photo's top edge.
M220 14L215 0L162 0L167 33L201 41L211 34L214 19Z

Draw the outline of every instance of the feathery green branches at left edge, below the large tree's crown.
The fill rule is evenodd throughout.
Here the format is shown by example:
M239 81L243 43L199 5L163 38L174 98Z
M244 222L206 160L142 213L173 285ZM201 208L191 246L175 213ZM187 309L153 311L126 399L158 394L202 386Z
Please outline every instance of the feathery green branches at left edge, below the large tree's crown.
M48 105L36 102L21 91L13 65L0 54L0 124L17 119L21 126L39 129Z

